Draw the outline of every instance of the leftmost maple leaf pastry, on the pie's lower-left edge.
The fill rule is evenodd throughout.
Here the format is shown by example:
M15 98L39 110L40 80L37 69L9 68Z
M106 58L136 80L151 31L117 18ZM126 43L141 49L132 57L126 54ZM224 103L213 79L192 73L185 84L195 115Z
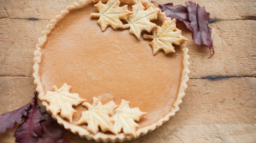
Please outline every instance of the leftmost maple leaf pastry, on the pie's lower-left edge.
M73 114L77 112L72 106L77 106L85 102L86 99L81 99L78 93L69 93L70 89L71 86L68 86L66 83L59 89L53 86L54 91L47 91L41 100L49 103L47 110L53 115L56 116L60 113L61 117L69 119L72 122Z

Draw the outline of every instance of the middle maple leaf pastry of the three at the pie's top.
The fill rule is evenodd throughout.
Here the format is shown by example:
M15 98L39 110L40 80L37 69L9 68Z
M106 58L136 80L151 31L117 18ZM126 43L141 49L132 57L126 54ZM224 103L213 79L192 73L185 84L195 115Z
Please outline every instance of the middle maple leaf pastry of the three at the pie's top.
M147 10L142 5L141 0L136 5L132 6L134 14L130 15L126 20L128 24L124 24L121 28L129 28L129 33L134 34L138 39L140 39L141 32L146 30L151 32L153 29L157 28L157 24L150 22L151 20L156 20L158 13L161 12L159 8L153 8L150 6Z

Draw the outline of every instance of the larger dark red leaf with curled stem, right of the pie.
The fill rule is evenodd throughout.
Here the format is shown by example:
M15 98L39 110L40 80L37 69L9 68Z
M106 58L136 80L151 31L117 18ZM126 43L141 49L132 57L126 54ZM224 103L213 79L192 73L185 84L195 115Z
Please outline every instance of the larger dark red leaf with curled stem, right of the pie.
M204 6L200 7L198 4L194 2L186 2L187 10L188 10L188 19L191 22L187 28L193 32L192 38L195 40L195 43L198 45L207 45L210 49L214 49L212 46L211 32L212 28L208 26L210 13L205 11ZM211 53L211 56L213 56ZM209 57L209 58L210 58Z

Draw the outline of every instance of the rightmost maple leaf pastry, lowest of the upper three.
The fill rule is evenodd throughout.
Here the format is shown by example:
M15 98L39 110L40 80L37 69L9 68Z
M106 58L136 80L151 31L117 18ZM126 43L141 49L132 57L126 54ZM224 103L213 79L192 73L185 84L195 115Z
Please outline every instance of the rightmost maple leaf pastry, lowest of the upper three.
M183 41L188 40L181 36L181 30L176 28L175 19L171 21L164 21L160 28L156 28L152 31L153 35L144 34L144 39L153 39L149 45L153 49L153 55L155 56L160 50L163 50L165 54L175 53L175 48L172 44L180 45Z

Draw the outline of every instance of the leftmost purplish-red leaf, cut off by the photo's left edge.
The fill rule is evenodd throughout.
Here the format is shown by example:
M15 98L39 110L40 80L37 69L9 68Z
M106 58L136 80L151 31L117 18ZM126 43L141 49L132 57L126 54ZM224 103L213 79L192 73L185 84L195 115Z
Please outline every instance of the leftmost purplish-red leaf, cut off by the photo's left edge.
M15 123L21 122L22 116L27 115L27 110L30 107L30 102L19 109L0 115L1 134L3 134L7 129L12 129Z

